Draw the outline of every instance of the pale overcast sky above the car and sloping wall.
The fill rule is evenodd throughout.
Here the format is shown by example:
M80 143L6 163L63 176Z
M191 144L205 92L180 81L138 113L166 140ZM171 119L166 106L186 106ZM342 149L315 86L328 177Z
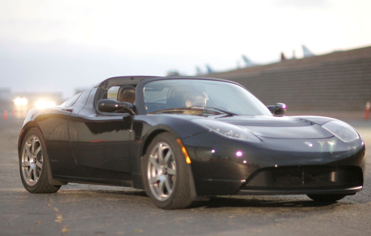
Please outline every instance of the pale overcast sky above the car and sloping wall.
M371 46L369 0L0 0L0 87L89 89L113 76L196 75Z

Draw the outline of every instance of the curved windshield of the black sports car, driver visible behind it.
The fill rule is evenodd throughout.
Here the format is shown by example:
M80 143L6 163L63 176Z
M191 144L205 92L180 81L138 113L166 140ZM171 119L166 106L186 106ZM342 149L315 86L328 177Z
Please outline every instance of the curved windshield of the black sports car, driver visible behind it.
M182 110L215 110L227 114L272 115L265 105L243 87L222 81L171 79L144 86L147 113L180 113ZM176 109L175 109L176 108Z

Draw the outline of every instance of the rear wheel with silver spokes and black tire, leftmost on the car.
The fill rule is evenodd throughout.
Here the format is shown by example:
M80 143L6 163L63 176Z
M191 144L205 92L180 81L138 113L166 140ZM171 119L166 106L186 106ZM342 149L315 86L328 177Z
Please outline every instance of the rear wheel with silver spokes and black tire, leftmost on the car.
M24 136L19 171L24 188L30 193L55 193L60 185L50 185L48 180L48 156L40 131L30 129Z

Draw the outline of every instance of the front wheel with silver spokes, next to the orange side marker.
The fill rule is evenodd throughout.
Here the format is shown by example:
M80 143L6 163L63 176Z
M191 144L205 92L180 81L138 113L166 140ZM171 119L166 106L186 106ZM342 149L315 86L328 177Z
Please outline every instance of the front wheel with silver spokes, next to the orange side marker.
M162 209L181 209L192 203L190 176L184 154L173 134L158 134L142 162L147 195Z

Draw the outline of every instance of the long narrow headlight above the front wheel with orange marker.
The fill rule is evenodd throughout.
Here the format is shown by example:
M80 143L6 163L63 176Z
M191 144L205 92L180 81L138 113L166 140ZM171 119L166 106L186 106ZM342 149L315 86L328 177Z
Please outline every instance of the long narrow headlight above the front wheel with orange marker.
M209 119L193 119L193 122L205 126L207 129L214 130L224 136L236 139L245 139L252 142L260 142L260 139L256 137L253 133L249 132L242 127L235 126L233 124L228 124L220 122L217 120Z

